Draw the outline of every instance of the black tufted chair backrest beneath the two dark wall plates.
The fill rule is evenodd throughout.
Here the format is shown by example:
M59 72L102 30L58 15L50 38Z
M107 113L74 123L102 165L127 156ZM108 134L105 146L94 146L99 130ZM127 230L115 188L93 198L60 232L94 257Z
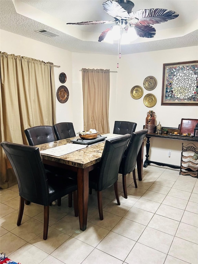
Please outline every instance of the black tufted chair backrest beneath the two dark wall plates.
M75 136L73 123L70 122L55 124L54 131L58 140Z

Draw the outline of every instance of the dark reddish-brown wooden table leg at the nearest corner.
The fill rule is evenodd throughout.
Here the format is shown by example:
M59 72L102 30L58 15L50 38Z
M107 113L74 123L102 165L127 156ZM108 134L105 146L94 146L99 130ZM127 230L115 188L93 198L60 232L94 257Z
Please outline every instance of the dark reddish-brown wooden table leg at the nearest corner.
M77 170L78 180L78 211L80 230L87 228L88 195L89 195L89 171L88 168Z

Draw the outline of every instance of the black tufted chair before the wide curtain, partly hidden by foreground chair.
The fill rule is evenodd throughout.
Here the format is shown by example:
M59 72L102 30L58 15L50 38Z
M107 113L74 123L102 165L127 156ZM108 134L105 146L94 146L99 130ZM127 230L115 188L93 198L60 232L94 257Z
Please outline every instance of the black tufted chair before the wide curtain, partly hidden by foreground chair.
M27 128L24 130L24 132L30 146L40 145L57 140L53 126L36 126L32 128ZM65 173L69 173L63 171L63 169L50 166L47 164L44 164L44 167L46 170L54 173L54 175L56 175L57 173L59 175L64 175ZM28 201L26 201L26 204L28 204ZM61 206L61 198L58 199L58 206ZM69 207L71 206L72 206L72 193L69 193Z

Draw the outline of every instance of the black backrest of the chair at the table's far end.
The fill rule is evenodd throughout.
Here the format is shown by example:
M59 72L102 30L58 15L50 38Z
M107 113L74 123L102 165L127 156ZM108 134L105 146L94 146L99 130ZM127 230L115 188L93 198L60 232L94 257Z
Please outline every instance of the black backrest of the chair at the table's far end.
M136 130L137 124L128 121L115 121L114 123L114 134L125 135L132 134Z

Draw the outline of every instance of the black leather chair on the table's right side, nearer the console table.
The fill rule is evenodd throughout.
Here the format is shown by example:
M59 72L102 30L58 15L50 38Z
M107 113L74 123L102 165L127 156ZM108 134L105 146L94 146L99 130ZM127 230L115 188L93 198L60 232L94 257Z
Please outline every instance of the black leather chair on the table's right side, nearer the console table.
M135 187L137 188L137 182L136 182L136 160L137 155L140 150L140 147L142 145L142 142L144 140L144 137L146 136L148 129L143 129L137 132L133 132L131 139L129 141L129 144L127 146L127 149L124 152L119 173L123 176L123 191L124 191L124 198L127 199L127 184L126 184L126 175L133 172L133 180Z

